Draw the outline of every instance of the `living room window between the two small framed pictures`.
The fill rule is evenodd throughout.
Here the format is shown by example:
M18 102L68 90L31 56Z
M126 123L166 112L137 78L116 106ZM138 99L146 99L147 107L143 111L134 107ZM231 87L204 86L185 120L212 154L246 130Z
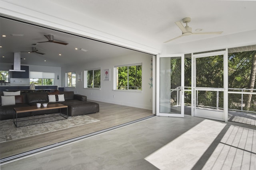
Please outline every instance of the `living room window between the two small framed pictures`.
M100 68L84 71L85 88L100 88Z

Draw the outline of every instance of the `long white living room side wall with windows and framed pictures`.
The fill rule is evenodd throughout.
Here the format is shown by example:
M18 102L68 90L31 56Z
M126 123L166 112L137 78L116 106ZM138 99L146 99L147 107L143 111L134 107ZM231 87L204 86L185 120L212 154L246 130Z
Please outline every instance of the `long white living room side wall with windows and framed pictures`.
M138 53L117 58L111 58L92 63L83 63L75 66L62 68L62 85L65 84L65 72L82 71L82 82L76 82L76 88L65 88L65 91L74 91L75 94L87 96L88 100L120 104L125 106L152 109L152 88L150 88L152 55ZM113 90L113 70L114 66L124 64L142 63L142 92L124 92ZM101 89L84 88L84 70L101 69ZM103 70L110 68L110 81L103 80Z

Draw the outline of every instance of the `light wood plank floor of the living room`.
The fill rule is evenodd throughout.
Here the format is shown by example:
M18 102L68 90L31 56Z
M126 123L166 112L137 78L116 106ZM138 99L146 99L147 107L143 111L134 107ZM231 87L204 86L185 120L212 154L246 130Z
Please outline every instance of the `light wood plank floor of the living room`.
M68 139L73 139L75 137L80 137L82 135L87 135L152 115L152 110L148 109L140 109L98 101L94 102L99 103L100 112L88 115L99 119L100 121L0 143L0 158L3 159L23 152L28 152L30 150L53 145Z

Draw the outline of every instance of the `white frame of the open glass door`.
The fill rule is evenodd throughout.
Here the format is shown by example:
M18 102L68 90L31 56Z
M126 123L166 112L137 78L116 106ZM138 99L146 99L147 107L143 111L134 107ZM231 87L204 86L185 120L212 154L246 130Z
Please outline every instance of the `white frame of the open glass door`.
M160 113L160 58L181 57L181 113ZM156 55L156 115L168 117L184 117L184 54Z

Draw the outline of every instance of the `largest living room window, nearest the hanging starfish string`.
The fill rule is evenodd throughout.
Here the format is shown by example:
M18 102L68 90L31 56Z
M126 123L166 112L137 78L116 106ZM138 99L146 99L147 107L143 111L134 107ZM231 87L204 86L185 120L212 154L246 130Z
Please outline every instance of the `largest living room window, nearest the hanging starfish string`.
M116 90L142 90L142 64L115 66Z

